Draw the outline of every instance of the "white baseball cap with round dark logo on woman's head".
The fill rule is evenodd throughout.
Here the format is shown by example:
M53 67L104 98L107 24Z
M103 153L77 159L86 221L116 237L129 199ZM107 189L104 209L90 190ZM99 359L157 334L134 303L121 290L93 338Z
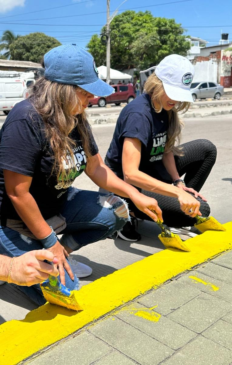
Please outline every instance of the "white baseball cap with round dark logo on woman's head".
M170 54L162 59L158 66L140 72L152 69L162 81L165 93L170 99L193 103L190 85L193 81L194 67L188 58L179 54Z

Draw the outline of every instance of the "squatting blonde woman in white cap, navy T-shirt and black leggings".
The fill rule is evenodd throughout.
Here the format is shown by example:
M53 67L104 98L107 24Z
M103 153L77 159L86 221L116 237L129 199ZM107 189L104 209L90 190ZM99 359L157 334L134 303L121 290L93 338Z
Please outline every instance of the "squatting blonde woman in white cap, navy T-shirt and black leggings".
M182 127L177 112L187 111L193 103L190 85L194 68L190 61L172 54L150 69L155 71L146 81L145 93L119 115L105 163L118 177L158 201L164 223L173 227L172 231L193 237L189 230L196 223L194 217L210 212L198 191L215 163L216 147L205 139L175 146ZM127 202L132 216L149 219ZM141 239L134 221L126 223L119 237Z

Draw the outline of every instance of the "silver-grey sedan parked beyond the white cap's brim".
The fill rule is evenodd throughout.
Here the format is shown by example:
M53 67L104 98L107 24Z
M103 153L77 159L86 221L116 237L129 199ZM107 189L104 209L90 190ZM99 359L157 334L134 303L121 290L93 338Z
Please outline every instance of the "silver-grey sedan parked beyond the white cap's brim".
M216 82L192 82L191 93L193 101L196 99L206 99L207 97L219 100L221 95L224 94L224 88L216 84Z

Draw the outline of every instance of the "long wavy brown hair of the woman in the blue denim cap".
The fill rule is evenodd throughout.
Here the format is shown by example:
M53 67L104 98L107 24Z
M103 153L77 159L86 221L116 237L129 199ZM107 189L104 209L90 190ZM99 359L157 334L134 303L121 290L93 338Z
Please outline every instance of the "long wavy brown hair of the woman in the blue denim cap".
M68 176L70 176L73 166L67 163L69 168L65 169L62 162L68 162L67 154L73 158L72 149L76 143L71 137L71 132L76 126L86 157L91 157L89 141L91 127L86 114L82 112L82 114L72 115L77 107L82 107L76 93L78 89L82 93L86 93L76 85L61 84L42 76L29 90L30 101L43 119L45 136L54 153L54 165L51 174L55 173L57 180L59 179L59 182L62 181L66 185L71 183Z

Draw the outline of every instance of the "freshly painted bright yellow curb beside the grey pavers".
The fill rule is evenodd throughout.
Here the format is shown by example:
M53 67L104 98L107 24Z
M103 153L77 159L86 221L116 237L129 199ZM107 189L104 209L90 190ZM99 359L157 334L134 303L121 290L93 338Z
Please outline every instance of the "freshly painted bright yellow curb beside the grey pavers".
M163 250L85 285L77 293L82 312L46 303L24 320L3 323L0 364L15 365L173 276L232 249L232 222L224 226L225 232L208 231L189 239L192 252Z

